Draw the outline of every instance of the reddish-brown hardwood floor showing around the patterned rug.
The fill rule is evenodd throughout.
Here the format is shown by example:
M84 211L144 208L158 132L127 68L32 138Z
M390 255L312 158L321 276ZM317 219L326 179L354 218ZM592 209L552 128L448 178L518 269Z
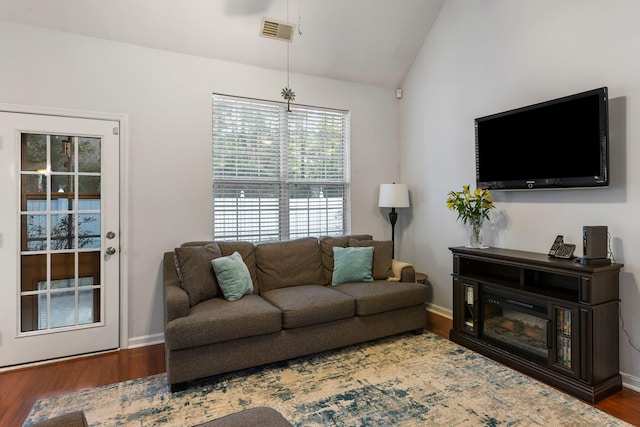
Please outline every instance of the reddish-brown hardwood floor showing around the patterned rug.
M449 337L450 319L427 318L431 332ZM160 344L0 372L0 426L21 426L38 399L158 374L164 366ZM623 388L594 406L640 426L640 393Z

